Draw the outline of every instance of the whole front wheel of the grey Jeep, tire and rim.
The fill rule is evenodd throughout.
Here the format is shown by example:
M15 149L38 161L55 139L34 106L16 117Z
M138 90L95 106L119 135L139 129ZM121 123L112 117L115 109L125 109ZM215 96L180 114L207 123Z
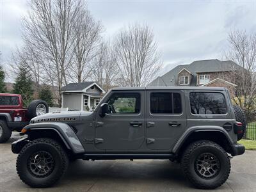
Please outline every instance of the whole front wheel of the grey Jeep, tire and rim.
M17 173L31 187L46 188L61 179L68 167L67 153L49 138L33 140L17 157Z

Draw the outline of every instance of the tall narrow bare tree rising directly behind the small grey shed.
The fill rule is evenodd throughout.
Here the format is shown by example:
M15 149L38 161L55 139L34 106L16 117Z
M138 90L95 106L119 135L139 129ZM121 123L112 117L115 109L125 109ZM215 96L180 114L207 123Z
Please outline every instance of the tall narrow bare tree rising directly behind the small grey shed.
M79 11L74 24L74 62L70 67L68 77L75 82L81 83L92 75L94 66L92 60L97 54L102 26L96 22L86 8L86 4Z

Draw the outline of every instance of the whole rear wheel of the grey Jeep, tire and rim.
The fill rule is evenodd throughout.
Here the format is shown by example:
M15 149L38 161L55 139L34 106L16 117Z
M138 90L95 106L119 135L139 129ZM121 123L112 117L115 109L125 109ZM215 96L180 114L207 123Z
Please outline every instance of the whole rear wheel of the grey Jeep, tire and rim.
M202 140L188 146L182 156L181 167L194 186L214 189L228 179L230 159L220 145Z

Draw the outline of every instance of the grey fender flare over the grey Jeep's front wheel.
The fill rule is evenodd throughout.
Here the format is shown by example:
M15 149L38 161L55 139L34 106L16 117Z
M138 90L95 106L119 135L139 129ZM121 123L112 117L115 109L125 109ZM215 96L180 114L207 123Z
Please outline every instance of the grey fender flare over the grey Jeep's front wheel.
M73 129L65 124L65 123L37 123L37 124L29 124L24 129L28 131L26 134L29 135L30 131L39 131L39 130L53 130L58 133L63 143L65 143L66 147L74 154L84 153L84 148L79 139L76 136L76 133Z

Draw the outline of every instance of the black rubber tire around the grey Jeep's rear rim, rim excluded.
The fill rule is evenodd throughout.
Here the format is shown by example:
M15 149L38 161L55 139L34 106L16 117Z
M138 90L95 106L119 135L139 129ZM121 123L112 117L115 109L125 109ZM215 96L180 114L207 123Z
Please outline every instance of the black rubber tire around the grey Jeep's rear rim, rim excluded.
M219 159L220 170L217 175L212 178L202 178L196 173L195 161L200 154L211 153ZM220 145L208 140L200 140L191 143L186 148L182 159L181 168L184 175L196 187L200 189L215 189L221 186L230 173L230 159L225 150Z

